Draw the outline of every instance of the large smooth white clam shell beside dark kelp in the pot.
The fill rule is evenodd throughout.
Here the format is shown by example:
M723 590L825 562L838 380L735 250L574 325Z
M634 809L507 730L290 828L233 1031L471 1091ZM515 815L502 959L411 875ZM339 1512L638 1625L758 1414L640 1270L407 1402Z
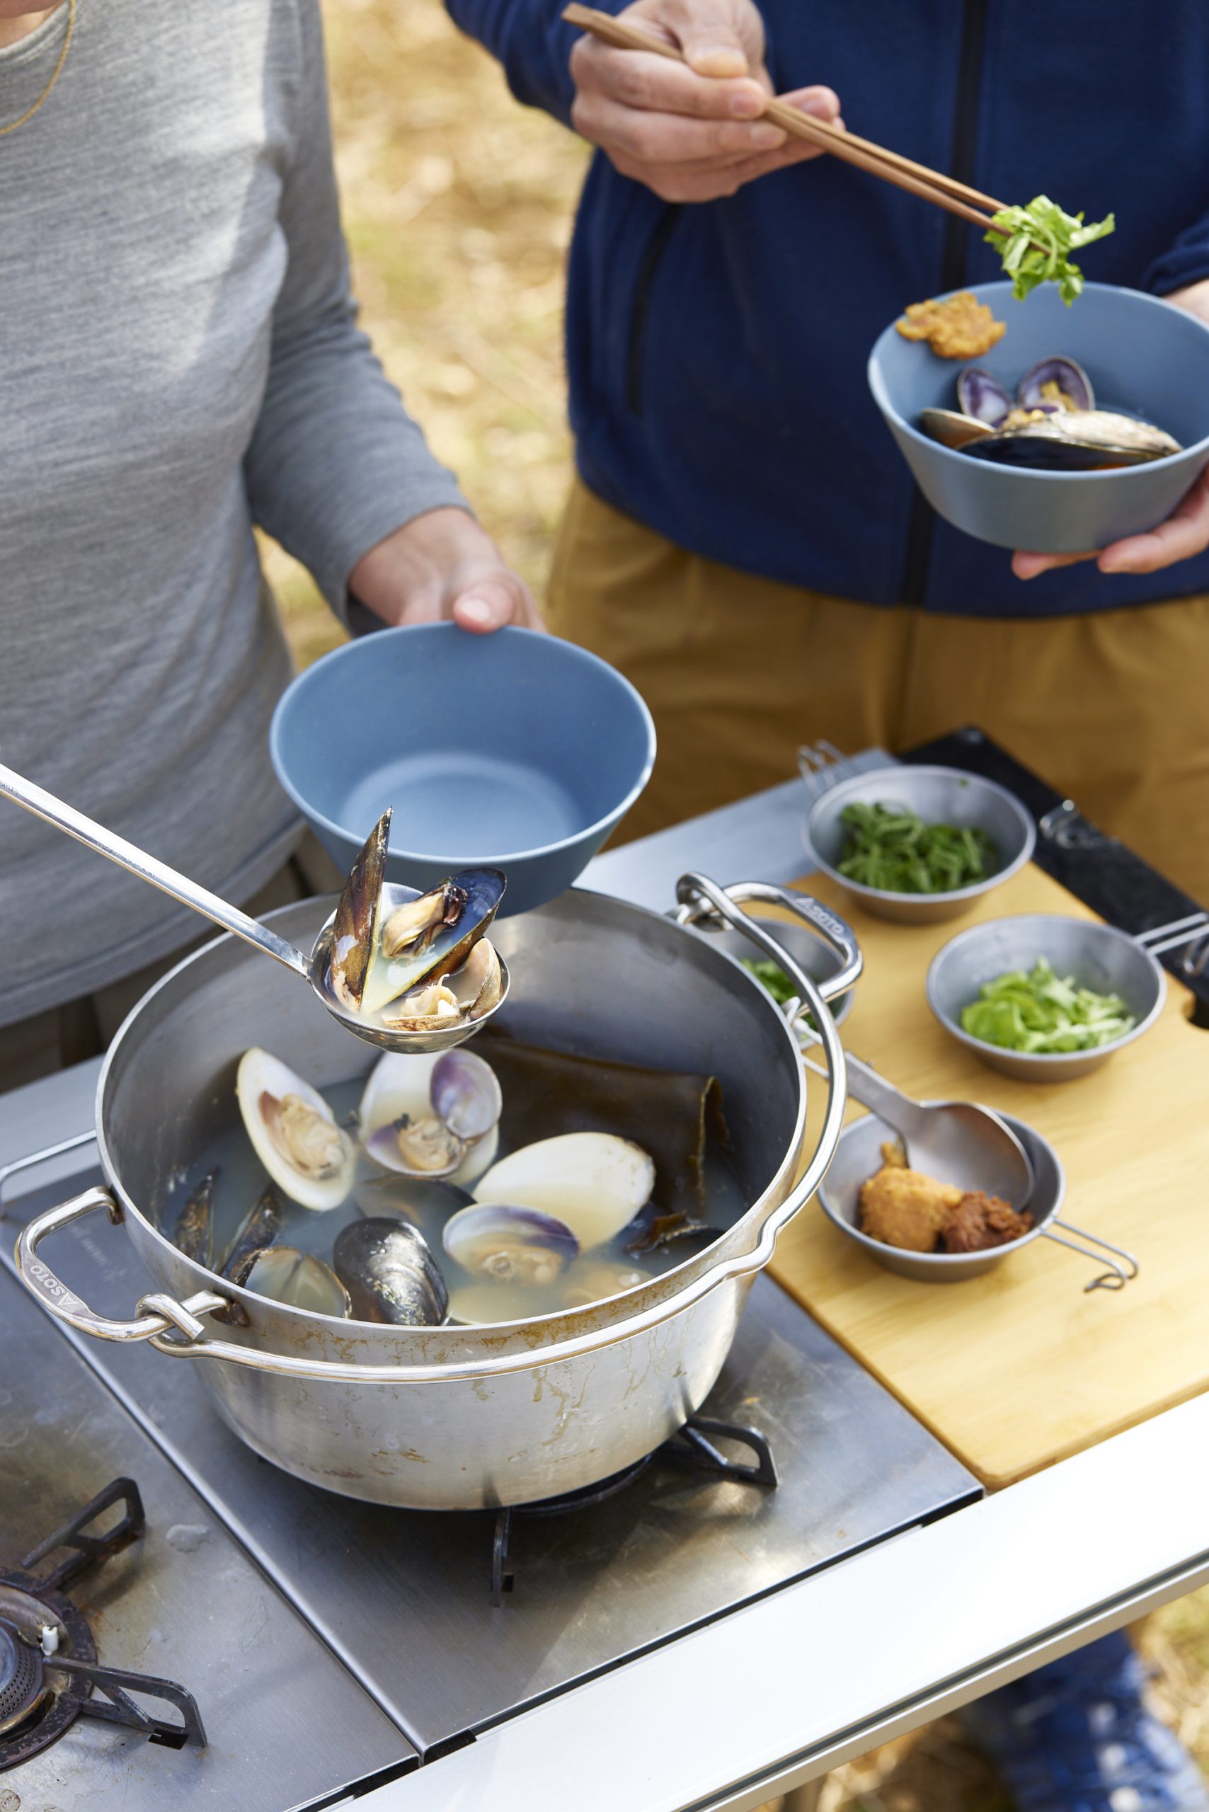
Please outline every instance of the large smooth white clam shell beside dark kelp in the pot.
M509 1152L473 1194L475 1201L553 1214L589 1252L629 1227L653 1189L654 1163L642 1145L614 1132L562 1132Z

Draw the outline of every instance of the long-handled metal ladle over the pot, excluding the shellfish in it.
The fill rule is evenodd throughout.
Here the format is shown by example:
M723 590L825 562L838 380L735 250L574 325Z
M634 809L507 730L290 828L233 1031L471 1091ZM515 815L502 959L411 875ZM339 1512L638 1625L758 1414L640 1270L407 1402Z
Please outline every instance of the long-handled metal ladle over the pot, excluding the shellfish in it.
M199 911L203 919L212 919L214 924L223 928L223 931L232 931L236 937L241 937L245 944L254 944L256 949L263 949L265 955L274 957L286 969L292 969L294 975L301 975L328 1009L332 1018L339 1020L341 1026L353 1033L355 1038L364 1038L366 1044L375 1044L382 1051L450 1051L455 1044L462 1044L473 1033L480 1031L482 1026L486 1026L486 1022L498 1013L508 998L508 966L500 957L500 998L493 1007L480 1013L473 1020L455 1020L453 1026L431 1031L392 1031L386 1026L363 1020L357 1013L350 1013L348 1007L344 1007L332 993L328 978L328 948L332 942L332 922L335 915L332 915L332 919L328 919L319 931L310 957L305 957L301 949L288 944L285 937L277 937L277 933L270 931L266 924L261 924L257 919L250 919L247 913L239 911L237 906L230 906L225 899L219 899L218 893L210 893L207 888L198 886L196 881L189 881L187 875L178 875L178 872L169 868L167 863L158 861L154 855L147 855L145 850L127 843L125 837L114 835L114 832L105 830L103 824L96 824L91 817L85 817L83 812L76 812L74 806L63 805L63 801L56 799L54 794L45 792L44 786L34 786L33 781L27 781L13 768L5 768L2 763L0 794L13 799L13 803L20 805L25 812L33 812L34 817L45 819L47 824L56 824L60 830L65 830L69 837L76 839L76 843L83 843L89 850L96 850L98 855L105 855L111 863L118 863L120 868L127 868L132 875L138 875L140 881L149 881L152 888L160 888L161 893L169 893L192 911ZM384 882L382 915L390 915L397 906L406 906L408 901L413 899L419 899L419 888L406 888L395 881Z

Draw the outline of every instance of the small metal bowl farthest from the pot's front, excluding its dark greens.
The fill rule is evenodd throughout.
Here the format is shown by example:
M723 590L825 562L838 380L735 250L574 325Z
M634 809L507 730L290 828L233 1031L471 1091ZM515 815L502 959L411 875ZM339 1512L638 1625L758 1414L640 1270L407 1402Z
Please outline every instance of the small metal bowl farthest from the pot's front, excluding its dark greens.
M970 888L953 888L950 893L888 893L883 888L866 888L859 881L848 881L837 868L846 835L841 814L845 806L857 803L903 805L915 812L924 824L977 826L991 837L999 850L1001 866L986 881L975 881ZM939 919L957 919L973 901L1002 886L1010 875L1022 868L1033 853L1037 826L1015 794L995 781L984 781L979 774L962 774L961 768L895 765L874 768L872 774L857 774L854 779L841 781L819 794L810 806L801 837L814 864L879 919L935 924Z

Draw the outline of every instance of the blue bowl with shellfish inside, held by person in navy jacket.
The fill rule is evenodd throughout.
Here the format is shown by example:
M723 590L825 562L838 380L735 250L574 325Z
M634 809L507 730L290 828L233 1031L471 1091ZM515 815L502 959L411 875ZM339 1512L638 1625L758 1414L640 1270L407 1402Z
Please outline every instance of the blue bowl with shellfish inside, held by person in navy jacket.
M1209 328L1104 283L1069 308L1053 284L1026 303L1010 283L973 295L1008 324L988 353L939 359L892 323L868 361L874 400L932 507L981 542L1048 554L1107 547L1169 516L1209 464ZM1004 424L1004 406L1020 415Z

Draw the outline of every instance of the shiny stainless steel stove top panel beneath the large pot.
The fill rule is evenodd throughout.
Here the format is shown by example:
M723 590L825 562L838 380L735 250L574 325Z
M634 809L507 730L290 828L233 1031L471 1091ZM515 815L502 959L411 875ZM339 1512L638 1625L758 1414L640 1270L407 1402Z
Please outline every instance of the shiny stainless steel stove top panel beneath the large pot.
M16 1212L71 1192L25 1198ZM129 1316L147 1288L116 1229L87 1223L47 1256L105 1314ZM709 1480L656 1460L595 1508L515 1517L515 1587L493 1605L495 1513L386 1509L301 1484L225 1428L190 1361L85 1339L80 1350L421 1752L981 1495L881 1384L759 1277L703 1413L767 1435L779 1486Z

